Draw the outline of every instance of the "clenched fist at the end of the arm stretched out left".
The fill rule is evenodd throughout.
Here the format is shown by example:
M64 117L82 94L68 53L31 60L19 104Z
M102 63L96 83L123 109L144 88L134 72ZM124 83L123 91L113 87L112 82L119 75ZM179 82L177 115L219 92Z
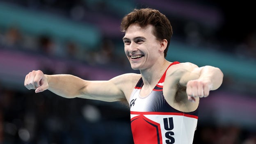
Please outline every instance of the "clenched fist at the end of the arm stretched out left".
M36 93L48 89L48 81L42 71L32 71L25 77L24 85L27 89L35 89Z

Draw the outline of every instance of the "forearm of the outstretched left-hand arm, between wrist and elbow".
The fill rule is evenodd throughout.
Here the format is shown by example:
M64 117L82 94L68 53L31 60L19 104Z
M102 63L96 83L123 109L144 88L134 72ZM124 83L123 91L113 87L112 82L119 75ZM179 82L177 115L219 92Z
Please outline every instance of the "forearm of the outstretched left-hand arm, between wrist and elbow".
M81 89L84 87L84 80L74 75L45 75L48 81L48 90L53 93L65 97L75 98L81 94Z

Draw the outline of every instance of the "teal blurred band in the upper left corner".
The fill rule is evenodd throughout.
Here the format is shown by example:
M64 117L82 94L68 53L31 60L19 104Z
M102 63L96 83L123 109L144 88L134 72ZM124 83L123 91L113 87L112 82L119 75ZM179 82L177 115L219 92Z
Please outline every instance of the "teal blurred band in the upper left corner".
M5 28L18 27L30 34L47 34L60 41L75 41L88 47L98 46L101 33L89 23L75 23L60 16L39 11L31 12L0 2L0 25Z

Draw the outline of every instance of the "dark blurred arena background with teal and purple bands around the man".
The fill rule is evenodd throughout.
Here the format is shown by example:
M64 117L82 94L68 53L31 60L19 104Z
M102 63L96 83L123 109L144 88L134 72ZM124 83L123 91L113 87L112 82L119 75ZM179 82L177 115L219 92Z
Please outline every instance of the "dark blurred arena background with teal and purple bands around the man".
M256 144L256 22L252 2L0 0L0 144L133 144L129 108L23 86L32 70L108 80L135 72L121 18L160 10L173 26L167 59L222 69L199 105L194 144Z

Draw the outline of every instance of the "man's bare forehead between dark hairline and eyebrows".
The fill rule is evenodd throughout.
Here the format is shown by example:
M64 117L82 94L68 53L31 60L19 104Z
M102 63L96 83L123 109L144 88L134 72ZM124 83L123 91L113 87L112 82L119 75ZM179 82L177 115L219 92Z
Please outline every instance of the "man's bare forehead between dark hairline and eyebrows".
M132 39L133 37L150 37L153 36L153 25L140 27L137 24L130 25L125 33L124 38Z

